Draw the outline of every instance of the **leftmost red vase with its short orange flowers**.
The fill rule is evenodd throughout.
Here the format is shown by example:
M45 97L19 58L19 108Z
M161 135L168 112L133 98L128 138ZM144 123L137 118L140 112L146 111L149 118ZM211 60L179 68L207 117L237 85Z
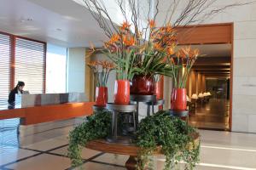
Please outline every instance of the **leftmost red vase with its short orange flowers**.
M107 60L90 61L87 65L96 77L96 105L105 107L108 103L108 76L114 65Z

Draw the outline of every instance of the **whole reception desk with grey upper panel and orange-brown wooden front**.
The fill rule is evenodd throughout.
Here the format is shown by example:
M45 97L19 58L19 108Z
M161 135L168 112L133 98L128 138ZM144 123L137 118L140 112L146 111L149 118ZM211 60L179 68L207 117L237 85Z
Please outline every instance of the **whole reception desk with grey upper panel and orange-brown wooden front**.
M20 125L54 122L91 115L93 105L83 94L22 94L13 108L0 106L0 120L20 118Z

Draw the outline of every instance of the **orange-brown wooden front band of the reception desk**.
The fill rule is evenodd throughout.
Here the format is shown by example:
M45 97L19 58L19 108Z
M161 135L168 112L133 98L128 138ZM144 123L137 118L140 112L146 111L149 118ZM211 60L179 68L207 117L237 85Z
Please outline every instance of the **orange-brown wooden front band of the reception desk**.
M0 120L21 118L20 125L32 125L41 122L54 122L69 118L91 115L94 102L66 103L59 105L39 105L26 108L0 110Z

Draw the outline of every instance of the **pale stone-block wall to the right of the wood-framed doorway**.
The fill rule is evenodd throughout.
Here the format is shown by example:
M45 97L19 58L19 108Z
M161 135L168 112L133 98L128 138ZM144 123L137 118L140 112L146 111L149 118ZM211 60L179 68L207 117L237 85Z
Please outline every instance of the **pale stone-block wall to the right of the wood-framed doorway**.
M229 9L212 22L234 22L232 131L256 133L256 3Z

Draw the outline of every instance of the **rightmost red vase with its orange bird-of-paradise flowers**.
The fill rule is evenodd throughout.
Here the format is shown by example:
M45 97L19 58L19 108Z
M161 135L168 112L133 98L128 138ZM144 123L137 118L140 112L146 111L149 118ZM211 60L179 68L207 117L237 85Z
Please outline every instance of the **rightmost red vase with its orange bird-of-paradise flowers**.
M171 104L172 110L185 111L187 108L186 83L189 72L199 56L198 49L190 47L180 48L176 53L170 50L167 61L172 67L174 88L172 89Z

